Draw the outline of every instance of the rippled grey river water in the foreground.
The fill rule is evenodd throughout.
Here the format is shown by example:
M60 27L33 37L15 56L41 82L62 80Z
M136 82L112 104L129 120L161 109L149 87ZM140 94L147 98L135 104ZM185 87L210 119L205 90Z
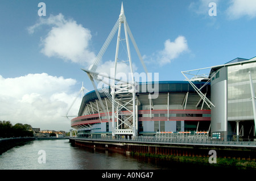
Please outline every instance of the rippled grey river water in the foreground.
M42 152L43 151L43 152ZM45 163L43 162L45 161ZM0 170L203 170L226 169L109 151L81 149L69 140L35 140L0 155ZM234 170L233 170L234 171Z

